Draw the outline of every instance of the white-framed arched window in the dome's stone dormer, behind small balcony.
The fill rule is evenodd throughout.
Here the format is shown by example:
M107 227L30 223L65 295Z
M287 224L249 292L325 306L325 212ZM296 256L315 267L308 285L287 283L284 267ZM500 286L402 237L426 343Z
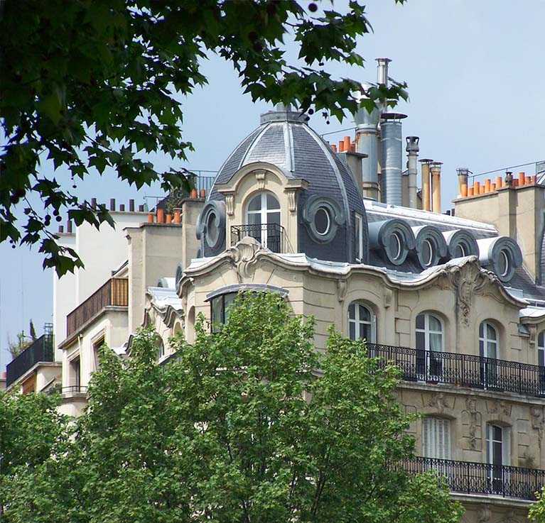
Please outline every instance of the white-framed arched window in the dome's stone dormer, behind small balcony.
M274 253L281 251L280 204L271 192L256 194L246 211L247 236Z

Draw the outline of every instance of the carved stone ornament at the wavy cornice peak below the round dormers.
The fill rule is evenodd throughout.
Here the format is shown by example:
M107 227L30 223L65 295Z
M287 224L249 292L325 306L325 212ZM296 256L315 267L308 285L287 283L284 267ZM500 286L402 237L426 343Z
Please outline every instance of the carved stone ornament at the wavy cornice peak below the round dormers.
M481 269L477 258L469 259L463 265L448 265L445 276L456 293L456 305L460 322L469 326L469 316L473 305L473 296L482 294L482 290L492 282L499 282L490 270Z

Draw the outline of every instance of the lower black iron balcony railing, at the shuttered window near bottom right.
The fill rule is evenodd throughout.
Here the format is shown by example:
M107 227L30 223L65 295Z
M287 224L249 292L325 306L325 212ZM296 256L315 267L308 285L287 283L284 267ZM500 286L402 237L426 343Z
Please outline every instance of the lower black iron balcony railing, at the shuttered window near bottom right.
M445 476L450 490L465 494L535 500L535 492L545 485L545 470L534 468L421 457L407 459L401 466L409 474L436 470Z

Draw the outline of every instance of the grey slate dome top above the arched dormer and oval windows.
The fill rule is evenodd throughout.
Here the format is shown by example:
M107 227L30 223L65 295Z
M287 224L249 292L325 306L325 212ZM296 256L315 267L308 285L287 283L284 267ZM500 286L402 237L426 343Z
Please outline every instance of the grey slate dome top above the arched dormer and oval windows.
M279 104L261 115L261 125L244 138L222 165L209 199L223 199L216 185L229 182L244 165L266 162L288 178L308 182L307 196L327 196L342 205L350 222L352 211L365 215L362 197L350 171L328 143L306 123L306 114Z

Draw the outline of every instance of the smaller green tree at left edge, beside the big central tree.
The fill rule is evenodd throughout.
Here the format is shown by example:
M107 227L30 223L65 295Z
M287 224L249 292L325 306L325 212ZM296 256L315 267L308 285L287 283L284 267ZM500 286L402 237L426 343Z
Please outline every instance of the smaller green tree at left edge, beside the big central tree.
M28 477L51 458L66 434L65 419L57 412L58 397L11 395L0 392L0 522L11 496L9 486L22 473Z

